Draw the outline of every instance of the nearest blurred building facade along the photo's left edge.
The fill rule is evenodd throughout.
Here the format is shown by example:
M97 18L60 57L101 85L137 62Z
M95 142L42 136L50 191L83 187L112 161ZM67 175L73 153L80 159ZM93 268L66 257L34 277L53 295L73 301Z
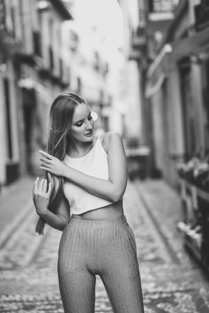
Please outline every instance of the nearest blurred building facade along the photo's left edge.
M14 1L13 1L14 2ZM0 1L0 184L12 182L19 175L20 132L22 108L16 88L15 54L20 51L20 27L16 26L16 6L11 1ZM20 25L20 24L19 24ZM21 112L21 113L20 113ZM1 186L0 185L0 186Z

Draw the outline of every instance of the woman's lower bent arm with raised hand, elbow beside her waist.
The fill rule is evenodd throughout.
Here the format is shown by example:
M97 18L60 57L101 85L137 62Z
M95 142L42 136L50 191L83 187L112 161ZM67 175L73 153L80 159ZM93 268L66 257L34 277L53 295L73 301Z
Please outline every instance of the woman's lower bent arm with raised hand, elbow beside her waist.
M66 198L63 196L56 211L52 213L47 209L49 197L51 194L51 184L47 191L47 179L42 179L38 184L39 177L33 186L33 202L36 207L37 214L45 220L45 222L56 230L63 230L70 220L70 206Z

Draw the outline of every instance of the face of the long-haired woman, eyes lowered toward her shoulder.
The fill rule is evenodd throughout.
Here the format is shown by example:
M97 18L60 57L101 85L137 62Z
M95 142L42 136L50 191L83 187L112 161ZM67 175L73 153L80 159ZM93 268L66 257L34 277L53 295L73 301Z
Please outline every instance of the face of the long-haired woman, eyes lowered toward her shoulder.
M88 142L93 140L93 118L87 104L75 106L72 116L70 134L76 141Z

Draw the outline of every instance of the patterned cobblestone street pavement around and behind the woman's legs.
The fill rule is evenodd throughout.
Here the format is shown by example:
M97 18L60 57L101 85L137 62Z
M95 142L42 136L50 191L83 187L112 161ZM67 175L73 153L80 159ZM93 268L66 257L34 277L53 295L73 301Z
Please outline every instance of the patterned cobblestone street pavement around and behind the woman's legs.
M162 181L129 182L124 207L137 241L145 312L209 312L208 280L176 230L176 193ZM32 202L24 210L1 246L0 312L63 312L56 274L61 232L47 227L45 236L38 236ZM112 312L99 277L95 312Z

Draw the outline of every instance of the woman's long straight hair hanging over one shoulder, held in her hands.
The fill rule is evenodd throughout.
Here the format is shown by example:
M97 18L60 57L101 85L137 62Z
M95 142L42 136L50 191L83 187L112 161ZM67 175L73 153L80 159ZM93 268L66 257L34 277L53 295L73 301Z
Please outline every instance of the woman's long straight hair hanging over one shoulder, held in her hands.
M47 141L47 152L54 157L63 161L65 153L70 144L70 127L72 124L72 116L75 111L75 106L87 102L72 92L60 93L52 103L49 114L49 135ZM46 174L47 181L51 182L52 193L49 199L48 209L54 212L60 204L63 195L63 177ZM44 234L45 220L39 216L36 223L36 232Z

